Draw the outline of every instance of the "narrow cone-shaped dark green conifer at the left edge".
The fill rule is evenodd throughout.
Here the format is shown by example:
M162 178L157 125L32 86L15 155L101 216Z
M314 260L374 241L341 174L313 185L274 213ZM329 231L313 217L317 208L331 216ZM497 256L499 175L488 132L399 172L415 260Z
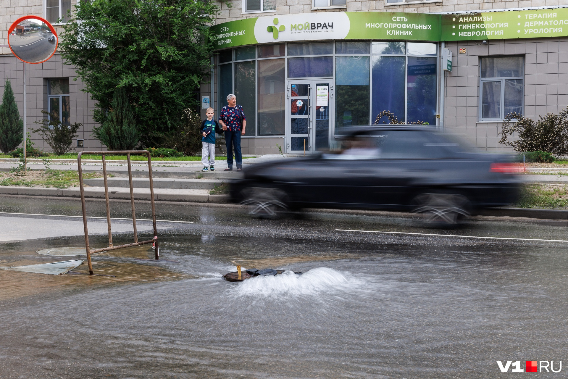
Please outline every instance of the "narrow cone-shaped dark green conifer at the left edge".
M14 150L24 139L24 123L20 118L12 85L6 80L0 105L0 149L3 153Z

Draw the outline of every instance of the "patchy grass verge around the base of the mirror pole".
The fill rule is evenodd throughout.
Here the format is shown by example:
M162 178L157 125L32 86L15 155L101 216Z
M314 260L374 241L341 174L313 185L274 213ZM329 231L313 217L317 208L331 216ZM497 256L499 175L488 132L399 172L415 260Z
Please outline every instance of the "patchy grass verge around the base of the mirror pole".
M110 175L109 175L110 176ZM102 173L83 173L83 178L99 178ZM14 175L10 173L0 174L2 186L26 186L26 187L55 187L69 188L79 185L79 175L73 170L45 170L30 172L27 175Z

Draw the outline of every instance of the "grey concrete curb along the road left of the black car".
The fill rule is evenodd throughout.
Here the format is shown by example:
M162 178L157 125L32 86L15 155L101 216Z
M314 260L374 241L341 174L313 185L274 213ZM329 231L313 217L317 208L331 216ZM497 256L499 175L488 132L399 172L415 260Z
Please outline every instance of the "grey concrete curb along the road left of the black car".
M59 188L41 188L41 187L18 187L18 186L1 186L0 195L27 195L27 196L53 196L53 197L71 197L81 198L81 193L77 189L59 189ZM85 188L85 198L105 198L104 190L92 190ZM110 191L108 193L110 199L130 199L128 191ZM149 193L134 193L135 200L150 200ZM210 195L210 194L169 194L156 193L154 191L154 201L177 201L177 202L199 202L199 203L228 203L228 195Z

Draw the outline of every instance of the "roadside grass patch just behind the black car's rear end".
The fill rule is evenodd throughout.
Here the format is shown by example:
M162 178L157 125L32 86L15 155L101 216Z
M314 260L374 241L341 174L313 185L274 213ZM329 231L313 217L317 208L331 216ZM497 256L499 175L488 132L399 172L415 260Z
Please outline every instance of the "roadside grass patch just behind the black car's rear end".
M568 207L568 189L561 184L525 184L521 188L520 208L566 208Z

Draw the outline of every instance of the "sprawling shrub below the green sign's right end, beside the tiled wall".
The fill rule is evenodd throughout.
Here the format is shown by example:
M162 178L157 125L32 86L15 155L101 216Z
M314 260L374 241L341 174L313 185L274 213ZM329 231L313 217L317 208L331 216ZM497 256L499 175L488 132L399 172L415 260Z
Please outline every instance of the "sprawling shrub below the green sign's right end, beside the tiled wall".
M512 119L517 121L511 124ZM509 140L515 133L519 137ZM546 116L538 116L536 121L516 112L509 113L503 121L500 135L499 143L511 146L515 151L564 154L568 152L568 108L558 115L547 113Z

